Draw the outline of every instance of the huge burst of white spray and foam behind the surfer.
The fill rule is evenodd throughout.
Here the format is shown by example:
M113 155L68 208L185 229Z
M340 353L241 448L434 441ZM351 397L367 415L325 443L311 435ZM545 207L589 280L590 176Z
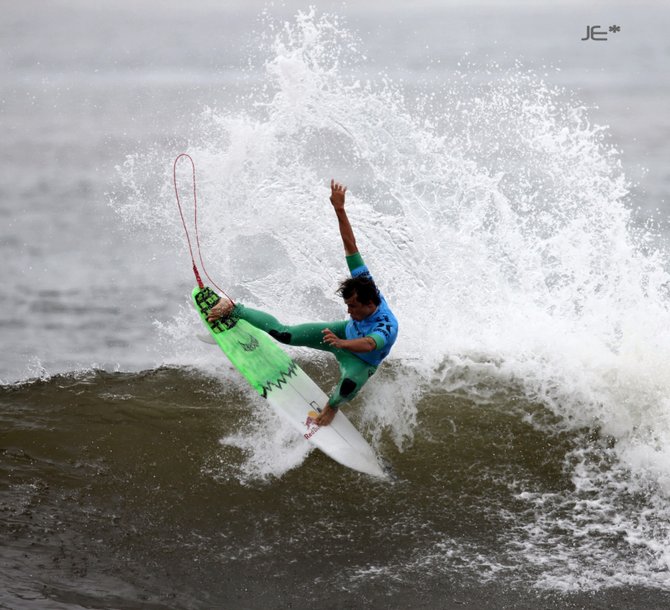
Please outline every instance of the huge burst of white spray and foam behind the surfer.
M327 185L348 184L359 245L401 327L387 373L364 399L360 422L371 437L409 455L428 413L450 417L449 401L439 401L444 413L430 409L433 394L462 398L476 418L482 405L523 405L519 422L573 439L556 458L574 487L519 491L523 510L555 525L578 507L567 523L586 528L582 540L623 511L635 525L624 519L613 539L645 547L665 582L665 536L650 523L670 493L668 257L635 217L608 130L574 94L521 64L488 80L466 66L422 90L366 75L360 41L333 16L311 10L268 30L264 64L250 68L262 82L190 126L212 275L288 323L342 317L334 287L345 268ZM155 169L164 158L129 157L114 205L125 223L181 252L165 203L170 168ZM179 175L185 192L189 180ZM211 371L201 352L184 349L193 329L186 308L161 322L165 360ZM448 426L431 428L455 438ZM248 451L257 435L227 442ZM265 440L287 456L271 476L305 459ZM265 476L269 454L254 459L240 478ZM644 518L623 508L628 496L644 497ZM546 545L553 526L537 527ZM567 538L560 548L570 565ZM598 565L608 548L595 553Z

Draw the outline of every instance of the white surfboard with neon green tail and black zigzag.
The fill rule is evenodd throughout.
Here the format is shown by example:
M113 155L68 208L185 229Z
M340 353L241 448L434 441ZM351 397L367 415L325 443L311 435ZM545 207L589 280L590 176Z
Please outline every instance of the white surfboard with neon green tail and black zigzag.
M246 320L209 322L207 314L219 300L211 288L194 288L192 297L211 337L233 366L305 441L343 466L386 478L372 447L342 411L328 426L315 423L328 396L274 339Z

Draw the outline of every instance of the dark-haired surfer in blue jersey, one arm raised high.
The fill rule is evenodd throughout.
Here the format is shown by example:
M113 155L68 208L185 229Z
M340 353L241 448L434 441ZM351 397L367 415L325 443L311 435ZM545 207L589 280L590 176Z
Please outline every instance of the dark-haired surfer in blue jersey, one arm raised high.
M351 273L351 277L340 284L337 293L344 299L351 319L286 326L263 311L245 307L241 303L233 304L225 297L212 307L207 317L210 321L228 316L242 318L286 345L331 352L340 366L340 379L328 403L316 418L320 426L327 426L339 406L358 394L381 361L388 356L398 335L398 321L377 289L356 246L354 231L344 209L347 188L331 180L330 190L330 202L337 215Z

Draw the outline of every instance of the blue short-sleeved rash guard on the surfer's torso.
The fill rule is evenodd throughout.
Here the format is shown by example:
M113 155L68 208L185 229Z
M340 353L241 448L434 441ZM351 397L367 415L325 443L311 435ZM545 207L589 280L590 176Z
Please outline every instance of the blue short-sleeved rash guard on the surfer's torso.
M351 277L366 277L372 279L372 274L363 262L360 253L347 256L347 265L351 272ZM357 321L349 320L346 326L347 339L361 339L370 337L377 346L371 352L354 353L355 356L371 364L379 366L379 363L389 355L391 347L398 337L398 320L393 315L382 293L378 291L381 303L377 306L374 313L367 318Z

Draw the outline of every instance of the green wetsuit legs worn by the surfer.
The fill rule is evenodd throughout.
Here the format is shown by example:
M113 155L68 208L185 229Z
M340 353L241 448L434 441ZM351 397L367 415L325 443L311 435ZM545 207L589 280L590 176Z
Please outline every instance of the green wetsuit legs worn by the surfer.
M376 366L368 364L354 353L338 349L323 341L323 330L326 328L332 330L340 339L346 339L347 322L344 320L286 326L270 314L245 307L239 303L235 305L231 315L246 320L252 326L265 331L285 345L312 347L333 354L340 365L340 380L336 390L328 399L328 404L333 408L339 407L343 402L347 402L356 396L365 382L377 370Z

